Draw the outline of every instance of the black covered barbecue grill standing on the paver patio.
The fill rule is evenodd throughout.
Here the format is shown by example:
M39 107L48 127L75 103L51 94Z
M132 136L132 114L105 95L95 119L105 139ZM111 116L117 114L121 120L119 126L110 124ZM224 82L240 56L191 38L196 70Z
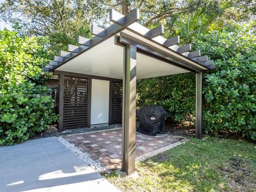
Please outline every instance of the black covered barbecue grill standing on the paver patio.
M167 112L162 106L143 106L137 110L138 132L146 135L165 134L164 119Z

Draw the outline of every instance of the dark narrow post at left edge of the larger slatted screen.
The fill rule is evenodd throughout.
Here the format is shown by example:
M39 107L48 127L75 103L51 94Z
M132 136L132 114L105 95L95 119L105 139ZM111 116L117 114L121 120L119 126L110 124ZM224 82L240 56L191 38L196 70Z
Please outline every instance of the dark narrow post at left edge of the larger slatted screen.
M59 124L58 131L63 131L64 75L59 76Z

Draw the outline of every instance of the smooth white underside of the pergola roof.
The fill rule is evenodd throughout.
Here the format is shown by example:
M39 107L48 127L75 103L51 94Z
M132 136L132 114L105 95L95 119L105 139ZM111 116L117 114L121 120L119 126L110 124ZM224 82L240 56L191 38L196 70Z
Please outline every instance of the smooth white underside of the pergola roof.
M115 38L92 47L64 63L57 70L86 75L122 79L123 47L115 45ZM137 53L137 79L159 77L189 72L170 63Z

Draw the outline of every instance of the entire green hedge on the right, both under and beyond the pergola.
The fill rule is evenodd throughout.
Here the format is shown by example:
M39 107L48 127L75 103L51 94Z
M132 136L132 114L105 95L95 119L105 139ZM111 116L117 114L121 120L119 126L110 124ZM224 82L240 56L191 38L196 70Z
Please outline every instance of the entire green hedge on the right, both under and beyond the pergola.
M217 66L204 75L205 133L226 130L256 140L256 37L250 26L235 33L212 31L193 47ZM138 95L138 106L156 103L175 122L194 121L194 74L140 81Z

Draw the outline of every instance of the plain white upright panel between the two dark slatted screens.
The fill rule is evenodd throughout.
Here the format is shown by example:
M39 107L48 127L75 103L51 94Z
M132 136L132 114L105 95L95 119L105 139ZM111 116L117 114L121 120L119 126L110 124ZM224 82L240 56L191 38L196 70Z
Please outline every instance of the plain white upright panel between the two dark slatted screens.
M92 79L91 125L108 123L109 81Z

